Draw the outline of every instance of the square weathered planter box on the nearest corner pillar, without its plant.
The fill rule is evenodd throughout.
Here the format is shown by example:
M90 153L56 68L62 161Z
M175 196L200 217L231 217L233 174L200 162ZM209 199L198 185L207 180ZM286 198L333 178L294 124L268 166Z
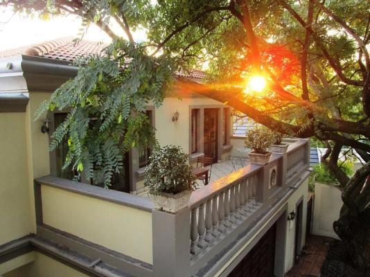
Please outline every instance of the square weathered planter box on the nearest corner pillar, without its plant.
M172 193L159 193L150 190L148 195L154 202L156 210L177 213L177 211L188 206L191 193L192 190L184 190L173 195Z

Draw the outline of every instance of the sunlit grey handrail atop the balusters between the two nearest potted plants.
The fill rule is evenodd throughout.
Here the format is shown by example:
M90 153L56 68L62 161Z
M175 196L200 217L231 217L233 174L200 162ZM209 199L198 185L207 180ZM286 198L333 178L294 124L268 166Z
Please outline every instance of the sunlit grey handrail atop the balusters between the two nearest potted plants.
M261 168L262 166L252 164L231 172L231 174L221 177L208 186L204 186L195 190L191 194L188 206L190 208L194 208L195 206L199 206L209 199L213 199L213 197L215 197L215 195L218 195L222 190L234 186L234 184L236 184L236 182L240 181L241 179L245 179L256 174L256 172L258 172L258 170L261 170Z

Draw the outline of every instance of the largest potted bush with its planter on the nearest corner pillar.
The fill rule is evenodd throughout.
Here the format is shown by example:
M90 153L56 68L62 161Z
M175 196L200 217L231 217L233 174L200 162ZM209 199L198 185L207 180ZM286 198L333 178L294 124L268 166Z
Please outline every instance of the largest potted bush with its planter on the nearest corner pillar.
M196 179L182 148L155 148L145 172L144 185L150 188L149 197L156 209L176 213L188 205Z

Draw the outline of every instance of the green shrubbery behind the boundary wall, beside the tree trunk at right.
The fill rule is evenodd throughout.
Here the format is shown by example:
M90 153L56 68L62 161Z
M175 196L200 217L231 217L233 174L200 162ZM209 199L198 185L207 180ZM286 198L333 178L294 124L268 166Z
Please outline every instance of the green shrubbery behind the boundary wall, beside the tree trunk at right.
M338 166L340 167L340 169L343 170L344 173L346 173L348 177L351 177L351 175L353 175L353 164L351 162L339 162ZM315 190L315 182L328 185L339 185L337 179L335 179L335 177L331 174L328 168L324 166L323 163L317 163L312 168L312 172L308 181L310 191Z

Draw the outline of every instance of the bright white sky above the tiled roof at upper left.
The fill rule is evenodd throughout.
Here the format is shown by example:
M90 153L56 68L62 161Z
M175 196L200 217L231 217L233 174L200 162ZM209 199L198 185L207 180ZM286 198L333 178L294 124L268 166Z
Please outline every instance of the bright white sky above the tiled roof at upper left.
M14 13L10 7L0 8L0 51L28 46L46 42L61 37L78 37L78 29L81 26L81 19L76 15L52 17L45 21L30 15ZM112 29L118 35L119 27L112 22ZM138 30L134 39L139 42L146 38L145 30ZM100 28L91 24L84 39L96 42L109 43L110 37Z

